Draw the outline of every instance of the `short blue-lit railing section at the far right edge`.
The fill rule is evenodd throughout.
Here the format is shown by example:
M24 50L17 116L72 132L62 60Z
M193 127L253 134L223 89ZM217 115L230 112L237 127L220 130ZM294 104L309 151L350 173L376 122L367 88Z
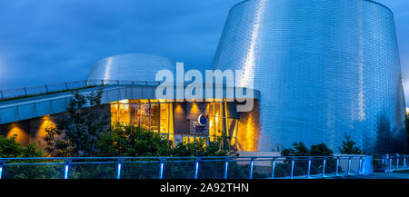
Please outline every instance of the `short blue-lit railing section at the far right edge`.
M394 172L409 170L407 162L409 160L408 154L384 154L375 157L373 166L375 172Z

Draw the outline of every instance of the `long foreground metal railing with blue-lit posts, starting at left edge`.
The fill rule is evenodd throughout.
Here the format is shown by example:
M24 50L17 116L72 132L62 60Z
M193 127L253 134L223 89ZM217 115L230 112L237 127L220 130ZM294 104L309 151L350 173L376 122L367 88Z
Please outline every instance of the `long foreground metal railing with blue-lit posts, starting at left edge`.
M311 179L364 174L366 160L364 155L0 158L0 179Z

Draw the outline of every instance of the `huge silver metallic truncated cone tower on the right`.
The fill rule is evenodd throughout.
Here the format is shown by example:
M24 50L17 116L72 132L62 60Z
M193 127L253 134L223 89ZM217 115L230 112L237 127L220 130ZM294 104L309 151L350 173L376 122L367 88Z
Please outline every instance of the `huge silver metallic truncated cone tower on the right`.
M230 10L213 68L261 92L257 151L344 133L367 153L406 145L394 16L369 0L247 0Z

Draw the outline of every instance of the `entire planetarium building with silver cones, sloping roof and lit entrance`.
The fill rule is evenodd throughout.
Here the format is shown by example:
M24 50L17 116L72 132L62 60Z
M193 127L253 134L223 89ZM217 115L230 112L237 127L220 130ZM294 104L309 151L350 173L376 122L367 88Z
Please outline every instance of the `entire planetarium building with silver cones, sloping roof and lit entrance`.
M401 67L390 9L370 0L247 0L230 10L208 69L241 70L235 87L254 107L223 94L198 102L155 97L155 74L176 62L120 54L96 63L88 80L0 91L0 132L22 143L64 115L71 90L103 88L101 113L175 143L229 137L239 151L276 152L295 142L337 147L348 134L366 153L406 151ZM188 70L189 68L185 68ZM214 87L215 88L215 87ZM244 95L245 97L245 95Z

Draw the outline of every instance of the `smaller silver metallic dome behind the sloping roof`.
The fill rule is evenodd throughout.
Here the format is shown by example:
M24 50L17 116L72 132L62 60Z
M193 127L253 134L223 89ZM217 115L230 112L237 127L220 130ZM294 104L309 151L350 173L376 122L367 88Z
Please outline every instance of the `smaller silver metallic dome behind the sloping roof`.
M175 72L176 63L153 54L118 54L96 63L88 76L91 80L155 81L156 72Z

